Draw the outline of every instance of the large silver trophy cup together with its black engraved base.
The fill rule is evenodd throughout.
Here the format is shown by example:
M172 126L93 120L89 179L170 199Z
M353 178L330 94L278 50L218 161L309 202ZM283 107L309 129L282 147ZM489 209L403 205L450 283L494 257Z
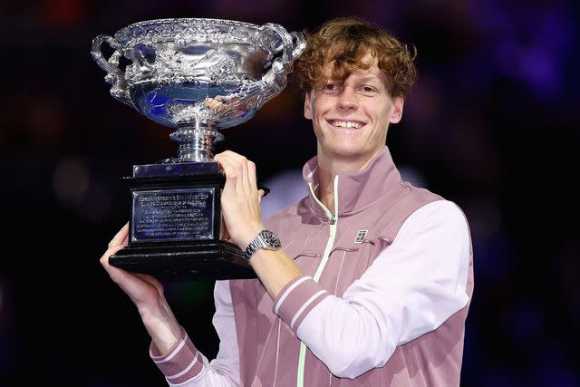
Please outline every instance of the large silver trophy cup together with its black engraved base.
M114 52L105 59L106 42ZM304 35L279 24L159 19L92 40L111 95L172 128L177 157L134 165L128 183L129 245L113 266L166 278L256 276L237 246L220 240L220 190L213 160L220 132L252 118L285 88ZM124 71L121 57L129 61Z

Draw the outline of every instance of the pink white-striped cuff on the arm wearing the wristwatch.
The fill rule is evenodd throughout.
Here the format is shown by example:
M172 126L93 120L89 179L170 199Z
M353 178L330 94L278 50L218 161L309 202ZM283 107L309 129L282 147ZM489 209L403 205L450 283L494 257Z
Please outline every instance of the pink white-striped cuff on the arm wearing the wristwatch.
M297 276L277 295L273 312L296 332L304 317L329 295L312 277Z

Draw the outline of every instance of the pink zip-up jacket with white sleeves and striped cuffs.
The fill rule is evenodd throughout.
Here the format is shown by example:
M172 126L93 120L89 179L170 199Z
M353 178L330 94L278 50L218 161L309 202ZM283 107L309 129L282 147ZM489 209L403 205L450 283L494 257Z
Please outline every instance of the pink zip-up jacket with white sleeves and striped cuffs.
M452 202L401 180L385 147L266 221L304 276L270 299L259 280L217 281L211 362L188 334L150 356L170 386L459 386L473 292L469 227ZM338 204L336 206L336 203Z

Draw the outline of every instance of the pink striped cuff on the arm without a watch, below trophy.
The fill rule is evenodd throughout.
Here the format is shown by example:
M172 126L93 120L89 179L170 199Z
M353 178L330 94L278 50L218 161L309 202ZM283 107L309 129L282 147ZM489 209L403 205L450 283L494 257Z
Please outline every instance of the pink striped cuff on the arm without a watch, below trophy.
M181 333L179 341L165 355L161 356L159 350L152 342L149 347L151 360L171 384L187 382L203 370L201 353L193 345L183 328L181 328Z

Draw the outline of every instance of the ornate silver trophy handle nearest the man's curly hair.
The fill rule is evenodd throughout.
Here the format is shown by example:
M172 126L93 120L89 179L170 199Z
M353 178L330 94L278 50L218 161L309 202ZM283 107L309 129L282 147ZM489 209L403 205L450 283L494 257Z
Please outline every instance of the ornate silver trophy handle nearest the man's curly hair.
M300 32L288 34L282 25L274 23L264 24L262 28L261 33L269 30L280 36L282 47L278 49L278 53L282 52L282 55L275 58L272 66L262 78L262 82L265 83L266 87L264 87L262 98L256 106L257 109L284 90L286 76L292 72L292 63L306 48L306 38Z

